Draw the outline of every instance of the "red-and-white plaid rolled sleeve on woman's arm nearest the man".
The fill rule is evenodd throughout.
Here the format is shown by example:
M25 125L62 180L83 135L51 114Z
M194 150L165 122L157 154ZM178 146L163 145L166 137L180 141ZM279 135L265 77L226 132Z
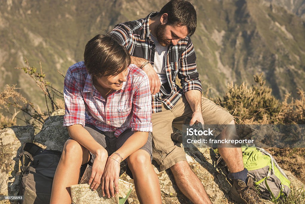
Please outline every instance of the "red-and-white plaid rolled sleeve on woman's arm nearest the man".
M138 81L138 88L133 97L133 115L131 130L152 132L152 98L147 75Z

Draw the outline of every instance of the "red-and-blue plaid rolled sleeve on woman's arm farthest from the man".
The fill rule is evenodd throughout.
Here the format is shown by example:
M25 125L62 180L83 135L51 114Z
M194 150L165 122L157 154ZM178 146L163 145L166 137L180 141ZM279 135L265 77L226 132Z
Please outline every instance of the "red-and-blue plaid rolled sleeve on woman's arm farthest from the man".
M67 71L65 77L63 96L65 100L63 126L72 126L75 124L85 126L84 98L70 70Z

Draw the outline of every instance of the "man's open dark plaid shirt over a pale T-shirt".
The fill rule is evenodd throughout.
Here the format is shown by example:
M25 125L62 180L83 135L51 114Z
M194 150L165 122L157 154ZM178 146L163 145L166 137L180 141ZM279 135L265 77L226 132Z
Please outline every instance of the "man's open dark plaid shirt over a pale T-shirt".
M144 58L154 64L156 46L149 37L149 18L158 12L150 13L146 18L118 24L110 32L132 56ZM182 94L189 90L202 92L198 71L196 70L196 54L192 41L187 36L177 45L168 46L165 69L168 83L161 85L160 92L152 96L152 112L161 112L162 103L172 109ZM175 80L181 80L182 89Z

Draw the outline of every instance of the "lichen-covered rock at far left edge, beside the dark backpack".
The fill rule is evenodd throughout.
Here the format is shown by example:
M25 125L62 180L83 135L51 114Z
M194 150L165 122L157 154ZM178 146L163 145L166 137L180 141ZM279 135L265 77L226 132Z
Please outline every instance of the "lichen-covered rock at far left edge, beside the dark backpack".
M33 142L33 126L12 126L0 130L0 195L17 195L20 186L21 145Z

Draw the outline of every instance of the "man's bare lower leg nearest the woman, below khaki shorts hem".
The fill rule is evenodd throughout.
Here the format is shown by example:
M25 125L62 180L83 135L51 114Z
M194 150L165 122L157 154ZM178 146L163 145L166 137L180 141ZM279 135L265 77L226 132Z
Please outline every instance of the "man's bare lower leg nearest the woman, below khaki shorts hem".
M187 161L180 161L170 167L180 191L192 203L212 203L201 181L192 171Z

